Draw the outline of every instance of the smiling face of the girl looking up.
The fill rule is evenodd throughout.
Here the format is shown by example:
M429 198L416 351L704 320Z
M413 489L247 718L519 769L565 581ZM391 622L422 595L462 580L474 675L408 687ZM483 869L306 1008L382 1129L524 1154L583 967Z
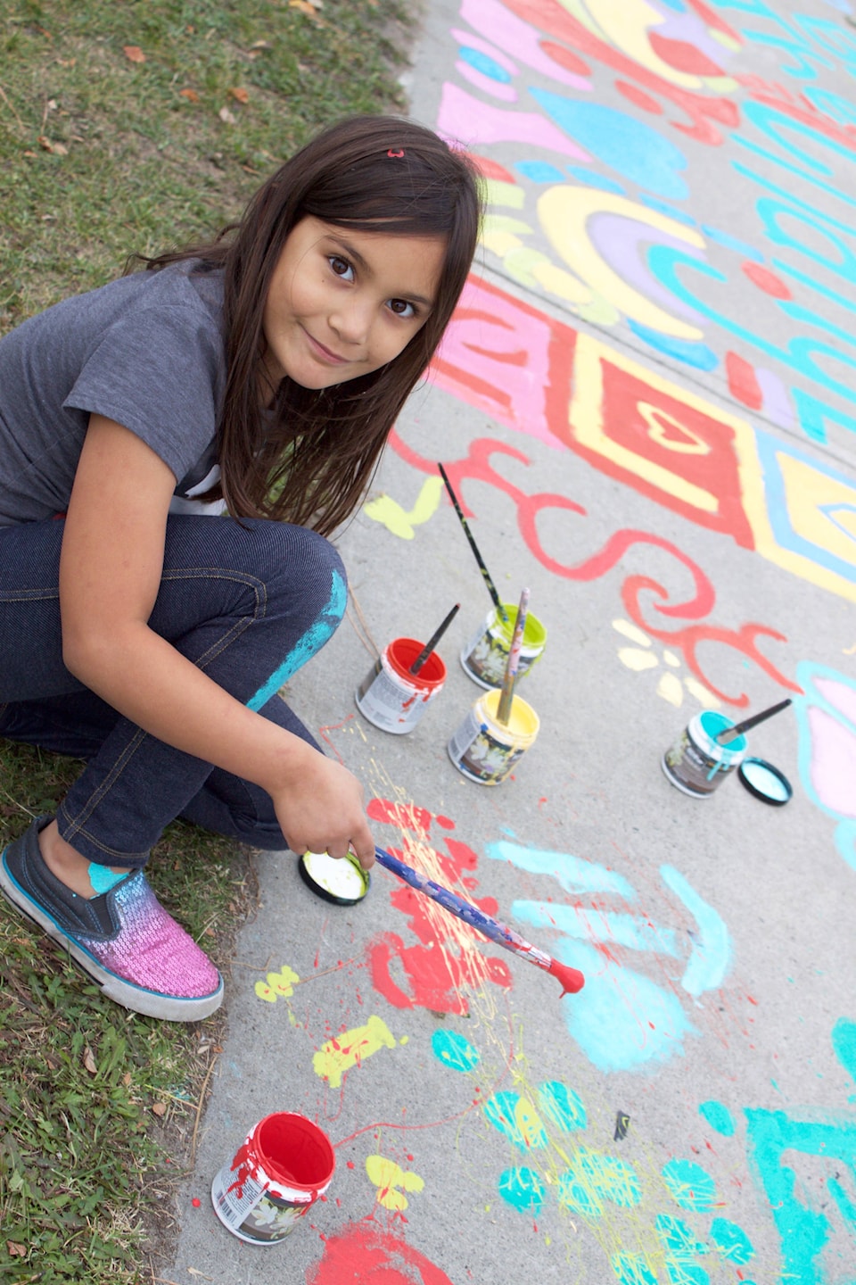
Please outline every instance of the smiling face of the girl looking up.
M386 365L434 307L443 236L354 231L307 216L289 234L264 302L262 397L289 375L329 388Z

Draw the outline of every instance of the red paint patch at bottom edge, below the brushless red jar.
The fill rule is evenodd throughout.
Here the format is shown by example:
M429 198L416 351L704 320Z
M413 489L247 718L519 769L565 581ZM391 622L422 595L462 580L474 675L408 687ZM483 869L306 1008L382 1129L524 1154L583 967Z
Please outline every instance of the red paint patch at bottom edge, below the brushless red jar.
M307 1285L364 1285L381 1279L384 1285L452 1285L425 1254L381 1231L372 1219L330 1236L314 1275L307 1272Z

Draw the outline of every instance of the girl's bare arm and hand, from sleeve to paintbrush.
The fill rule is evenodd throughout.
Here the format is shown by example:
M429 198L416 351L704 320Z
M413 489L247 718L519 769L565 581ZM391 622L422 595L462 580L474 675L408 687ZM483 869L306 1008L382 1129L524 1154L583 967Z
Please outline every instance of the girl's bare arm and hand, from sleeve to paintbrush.
M248 709L149 628L175 484L141 438L90 418L59 569L68 669L145 731L267 790L294 852L339 857L350 846L370 866L375 844L355 777Z

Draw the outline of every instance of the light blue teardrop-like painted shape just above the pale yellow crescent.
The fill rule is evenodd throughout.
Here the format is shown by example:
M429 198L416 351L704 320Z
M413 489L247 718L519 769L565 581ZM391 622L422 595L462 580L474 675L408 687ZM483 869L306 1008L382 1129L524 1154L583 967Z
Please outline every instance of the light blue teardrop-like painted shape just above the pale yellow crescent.
M687 157L670 139L628 112L583 103L545 89L530 89L535 102L575 143L622 179L666 200L689 194L681 170Z

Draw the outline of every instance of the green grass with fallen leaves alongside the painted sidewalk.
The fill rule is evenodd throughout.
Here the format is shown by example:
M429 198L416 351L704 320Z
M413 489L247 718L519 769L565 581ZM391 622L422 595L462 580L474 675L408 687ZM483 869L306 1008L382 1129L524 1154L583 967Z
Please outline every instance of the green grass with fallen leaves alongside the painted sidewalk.
M0 334L116 276L132 252L216 231L321 126L402 109L397 49L412 5L304 9L0 0ZM53 811L80 767L0 740L1 842ZM176 824L149 874L228 971L253 902L246 856ZM163 1275L223 1020L126 1013L0 902L4 1285Z

